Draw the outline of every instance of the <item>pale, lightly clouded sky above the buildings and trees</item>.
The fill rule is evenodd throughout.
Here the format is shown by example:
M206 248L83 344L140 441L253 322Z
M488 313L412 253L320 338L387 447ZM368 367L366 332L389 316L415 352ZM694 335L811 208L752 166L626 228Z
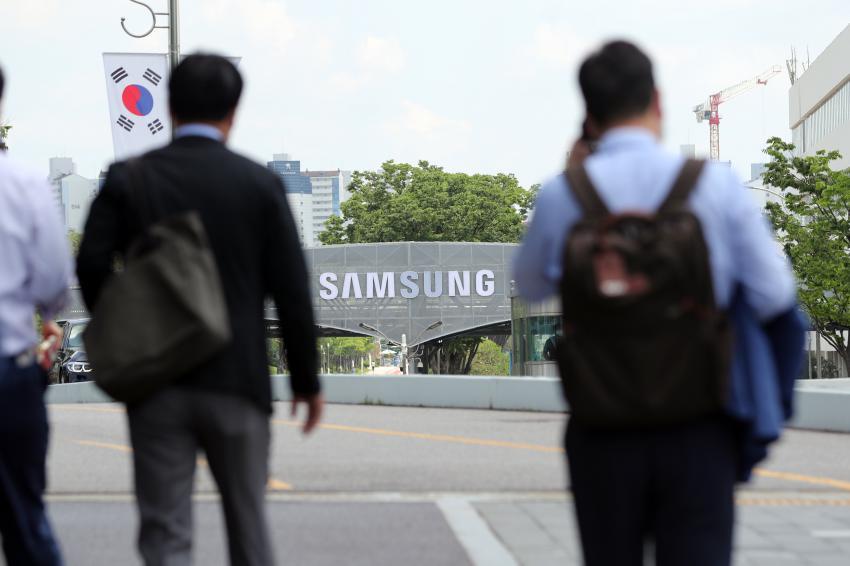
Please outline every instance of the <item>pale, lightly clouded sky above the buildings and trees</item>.
M166 0L151 0L166 11ZM102 52L164 52L138 40L147 12L124 0L0 0L0 65L12 154L47 175L73 157L94 177L112 159ZM577 65L603 41L653 57L664 142L708 153L692 107L791 46L814 58L850 23L848 0L182 0L184 53L241 56L246 91L232 145L310 169L426 159L451 171L514 173L525 186L562 166L583 106ZM850 65L850 54L848 54ZM742 178L764 141L790 137L787 74L721 106L721 159Z

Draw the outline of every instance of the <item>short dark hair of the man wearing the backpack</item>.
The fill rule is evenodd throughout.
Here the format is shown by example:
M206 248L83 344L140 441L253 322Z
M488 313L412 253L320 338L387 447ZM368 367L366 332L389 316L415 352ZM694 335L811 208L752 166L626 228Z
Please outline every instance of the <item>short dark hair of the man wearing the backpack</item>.
M578 72L587 114L599 126L643 113L652 102L652 61L628 41L612 41L592 53Z

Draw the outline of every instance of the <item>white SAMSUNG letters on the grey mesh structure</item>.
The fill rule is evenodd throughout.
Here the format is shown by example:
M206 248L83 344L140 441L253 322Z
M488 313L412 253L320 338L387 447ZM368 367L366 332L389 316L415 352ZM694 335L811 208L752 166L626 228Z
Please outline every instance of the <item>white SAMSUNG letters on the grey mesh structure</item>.
M394 271L362 273L322 273L319 297L334 299L387 299L402 297L489 297L496 292L496 277L489 269L476 271Z

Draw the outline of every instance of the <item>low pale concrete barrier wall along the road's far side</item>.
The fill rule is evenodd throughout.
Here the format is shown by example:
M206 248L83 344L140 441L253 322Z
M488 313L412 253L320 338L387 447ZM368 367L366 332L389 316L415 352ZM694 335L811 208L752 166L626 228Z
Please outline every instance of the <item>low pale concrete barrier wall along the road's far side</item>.
M563 412L558 379L474 376L322 376L329 403ZM272 377L275 401L290 399L287 378ZM48 403L107 403L94 383L51 385ZM795 428L850 432L850 379L800 381Z

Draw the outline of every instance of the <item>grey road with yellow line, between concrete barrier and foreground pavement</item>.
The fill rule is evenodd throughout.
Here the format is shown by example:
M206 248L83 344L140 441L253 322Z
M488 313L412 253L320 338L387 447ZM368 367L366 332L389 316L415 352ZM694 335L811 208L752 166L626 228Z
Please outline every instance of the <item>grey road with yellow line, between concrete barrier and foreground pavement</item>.
M304 437L278 404L272 487L296 492L557 492L567 484L552 413L329 405ZM51 405L51 494L121 494L132 486L123 409ZM789 430L748 490L850 488L847 435ZM769 476L769 477L766 477ZM826 482L826 483L824 483ZM840 485L840 484L838 484ZM214 491L201 468L199 492Z

